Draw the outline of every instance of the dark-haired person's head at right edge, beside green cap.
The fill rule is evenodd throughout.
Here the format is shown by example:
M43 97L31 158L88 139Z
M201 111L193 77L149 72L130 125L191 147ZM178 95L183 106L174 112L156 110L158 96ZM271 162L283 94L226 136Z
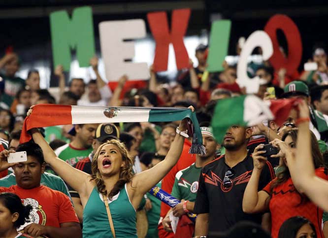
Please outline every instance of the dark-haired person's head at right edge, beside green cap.
M328 115L328 85L315 86L311 89L311 103L316 110Z

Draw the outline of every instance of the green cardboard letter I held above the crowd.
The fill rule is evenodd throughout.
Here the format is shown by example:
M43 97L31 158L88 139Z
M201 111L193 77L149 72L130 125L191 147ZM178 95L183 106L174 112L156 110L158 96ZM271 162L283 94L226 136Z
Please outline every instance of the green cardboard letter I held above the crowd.
M207 70L209 72L217 72L224 69L222 63L228 55L230 28L230 20L219 20L212 23L207 58Z

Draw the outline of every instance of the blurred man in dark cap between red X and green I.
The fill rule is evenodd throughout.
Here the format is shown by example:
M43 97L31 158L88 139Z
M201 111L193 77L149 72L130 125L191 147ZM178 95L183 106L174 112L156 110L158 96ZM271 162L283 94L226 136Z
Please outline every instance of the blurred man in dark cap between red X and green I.
M190 60L189 71L183 72L178 81L183 87L198 88L200 85L201 77L206 69L206 50L207 45L199 44L196 48L196 58L198 61L198 66L194 68L194 63Z

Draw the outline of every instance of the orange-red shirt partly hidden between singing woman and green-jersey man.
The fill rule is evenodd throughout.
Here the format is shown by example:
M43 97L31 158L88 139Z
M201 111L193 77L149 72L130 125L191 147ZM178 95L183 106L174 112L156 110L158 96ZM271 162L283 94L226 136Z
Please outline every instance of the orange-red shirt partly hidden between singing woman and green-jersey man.
M180 159L178 160L178 163L165 175L165 177L162 180L162 189L167 192L171 193L174 180L175 180L175 174L183 169L186 169L187 167L191 166L193 163L196 161L196 155L189 154L189 149L191 147L191 142L189 140L185 139L185 143L183 145L183 150L180 156ZM161 203L161 217L165 217L166 213L170 207L164 203ZM159 230L160 230L160 237L167 237L168 236L173 236L173 233L166 233L163 230L163 225L162 223L159 225ZM163 234L162 234L163 233Z

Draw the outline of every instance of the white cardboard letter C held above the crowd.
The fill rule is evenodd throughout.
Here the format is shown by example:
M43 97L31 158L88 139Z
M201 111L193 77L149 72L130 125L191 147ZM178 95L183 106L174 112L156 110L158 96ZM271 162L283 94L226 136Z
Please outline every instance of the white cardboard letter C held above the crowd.
M253 32L246 40L237 65L237 83L240 87L246 87L246 93L253 94L259 91L260 78L249 78L247 76L247 58L256 47L261 47L263 60L267 60L273 53L272 42L268 34L264 31Z

